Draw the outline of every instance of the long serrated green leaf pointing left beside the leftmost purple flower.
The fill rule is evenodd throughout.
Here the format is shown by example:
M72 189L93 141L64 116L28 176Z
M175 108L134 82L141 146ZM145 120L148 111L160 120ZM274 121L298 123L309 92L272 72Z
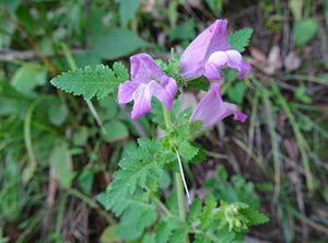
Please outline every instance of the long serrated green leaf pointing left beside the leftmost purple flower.
M85 100L97 96L98 100L105 97L114 89L126 80L127 76L122 72L122 67L116 65L119 77L108 68L108 66L97 65L94 68L87 66L84 70L75 69L54 78L52 85L74 95L83 95Z

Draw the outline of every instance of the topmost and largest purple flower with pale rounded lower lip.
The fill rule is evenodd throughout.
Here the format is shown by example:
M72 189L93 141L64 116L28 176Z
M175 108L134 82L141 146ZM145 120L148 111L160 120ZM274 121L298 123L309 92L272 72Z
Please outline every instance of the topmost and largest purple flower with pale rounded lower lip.
M251 72L251 66L229 44L226 23L226 20L216 20L184 51L179 62L180 74L186 81L202 74L210 80L223 80L220 69L225 67L236 69L241 79L247 76L246 69Z

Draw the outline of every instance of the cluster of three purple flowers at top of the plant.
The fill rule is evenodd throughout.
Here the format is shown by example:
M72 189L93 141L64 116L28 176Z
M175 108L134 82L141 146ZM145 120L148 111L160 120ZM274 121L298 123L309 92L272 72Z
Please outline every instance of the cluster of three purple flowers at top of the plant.
M242 55L232 49L226 36L226 20L216 20L203 31L187 47L179 59L179 76L186 81L204 76L211 81L224 80L220 69L230 67L238 71L243 79L246 70L251 67L243 60ZM167 109L173 108L173 101L177 93L176 81L163 73L156 62L147 54L134 55L131 60L131 81L121 83L118 91L118 102L134 101L131 117L133 119L151 111L152 96L165 104ZM210 128L229 115L245 121L247 116L238 112L234 104L223 102L220 84L213 82L209 92L194 111L189 123L202 120L202 129Z

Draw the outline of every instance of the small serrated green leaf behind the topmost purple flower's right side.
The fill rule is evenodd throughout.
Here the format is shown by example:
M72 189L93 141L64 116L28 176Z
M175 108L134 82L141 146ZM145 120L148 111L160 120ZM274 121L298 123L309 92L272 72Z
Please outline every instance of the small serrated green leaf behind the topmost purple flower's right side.
M241 31L231 33L227 40L233 49L243 53L245 47L248 46L251 33L253 28L245 27Z

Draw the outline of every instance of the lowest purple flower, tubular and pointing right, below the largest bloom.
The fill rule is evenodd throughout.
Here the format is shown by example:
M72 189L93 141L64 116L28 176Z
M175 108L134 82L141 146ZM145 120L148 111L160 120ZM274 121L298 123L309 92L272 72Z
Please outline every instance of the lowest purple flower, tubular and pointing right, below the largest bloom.
M247 115L238 112L235 104L223 102L220 93L220 84L212 83L209 92L191 114L189 123L200 119L202 120L202 130L204 130L230 115L234 115L234 119L243 123L247 118Z

